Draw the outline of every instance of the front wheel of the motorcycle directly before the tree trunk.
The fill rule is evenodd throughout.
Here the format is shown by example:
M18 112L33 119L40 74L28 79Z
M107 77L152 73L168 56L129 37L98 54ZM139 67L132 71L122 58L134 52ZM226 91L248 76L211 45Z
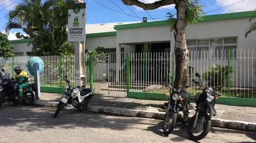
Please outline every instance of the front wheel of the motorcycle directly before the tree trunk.
M167 111L163 121L163 133L165 135L171 134L176 126L177 113L173 111Z

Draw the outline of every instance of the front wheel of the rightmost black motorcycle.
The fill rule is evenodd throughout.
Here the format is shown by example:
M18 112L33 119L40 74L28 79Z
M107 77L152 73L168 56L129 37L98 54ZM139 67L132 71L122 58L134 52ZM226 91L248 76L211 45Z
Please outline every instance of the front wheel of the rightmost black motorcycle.
M205 112L199 112L198 120L200 119L200 117L204 117L204 118L205 118L205 123L203 124L203 132L202 132L201 134L195 136L195 135L193 134L193 131L192 131L194 122L195 122L195 120L196 120L196 115L194 115L194 116L190 119L190 121L189 121L189 123L188 123L187 134L188 134L189 138L191 138L191 139L194 140L194 141L198 141L198 140L203 139L203 138L208 134L208 132L209 132L209 130L210 130L210 127L211 127L211 119L210 119L210 117L207 115L207 113L205 113ZM197 125L197 127L198 127L198 126L199 126L199 125Z

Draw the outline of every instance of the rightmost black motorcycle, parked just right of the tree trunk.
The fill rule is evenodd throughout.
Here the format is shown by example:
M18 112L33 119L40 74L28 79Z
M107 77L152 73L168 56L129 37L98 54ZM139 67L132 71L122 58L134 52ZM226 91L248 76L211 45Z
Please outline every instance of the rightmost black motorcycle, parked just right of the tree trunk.
M195 75L199 78L199 81L195 81L194 79L192 79L192 81L200 86L202 93L197 93L194 98L197 105L196 114L188 123L187 133L192 140L198 141L203 139L208 134L210 128L212 132L214 132L211 126L211 117L217 115L214 106L216 104L216 100L218 100L221 96L217 94L215 90L220 90L222 87L219 86L215 90L204 87L202 84L201 75L199 73L196 73ZM197 136L193 134L199 133L200 131L202 131L202 133Z

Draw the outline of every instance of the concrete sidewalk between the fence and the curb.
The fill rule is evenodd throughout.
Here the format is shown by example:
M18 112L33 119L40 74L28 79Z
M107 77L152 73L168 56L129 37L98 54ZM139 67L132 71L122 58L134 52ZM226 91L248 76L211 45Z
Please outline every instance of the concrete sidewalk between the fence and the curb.
M59 102L60 94L41 93L41 100ZM133 98L108 97L106 95L95 95L90 101L91 106L115 107L132 110L144 110L152 112L165 112L163 104L167 101L139 100ZM217 101L218 103L218 101ZM195 103L191 103L195 107ZM216 104L217 116L214 119L243 121L256 123L256 107L240 107ZM195 114L194 109L190 115Z

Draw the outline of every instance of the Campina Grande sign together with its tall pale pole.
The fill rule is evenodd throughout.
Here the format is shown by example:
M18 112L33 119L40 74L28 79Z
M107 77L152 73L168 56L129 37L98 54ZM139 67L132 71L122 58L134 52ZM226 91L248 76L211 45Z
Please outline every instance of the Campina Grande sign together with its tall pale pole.
M69 6L68 19L68 42L75 42L75 85L81 85L82 80L86 86L86 3L75 0L75 3Z

